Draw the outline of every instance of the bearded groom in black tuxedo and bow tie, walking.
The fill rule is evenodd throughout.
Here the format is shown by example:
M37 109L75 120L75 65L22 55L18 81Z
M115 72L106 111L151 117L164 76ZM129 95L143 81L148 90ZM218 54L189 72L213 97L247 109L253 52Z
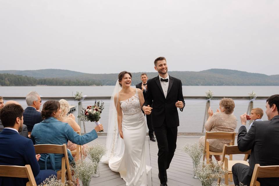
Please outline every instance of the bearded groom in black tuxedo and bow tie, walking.
M158 57L154 61L159 76L147 81L148 89L142 110L149 115L152 110L152 125L158 144L158 168L160 186L167 186L167 169L174 157L179 126L178 111L185 106L182 83L169 76L167 60ZM153 103L153 108L149 105Z

